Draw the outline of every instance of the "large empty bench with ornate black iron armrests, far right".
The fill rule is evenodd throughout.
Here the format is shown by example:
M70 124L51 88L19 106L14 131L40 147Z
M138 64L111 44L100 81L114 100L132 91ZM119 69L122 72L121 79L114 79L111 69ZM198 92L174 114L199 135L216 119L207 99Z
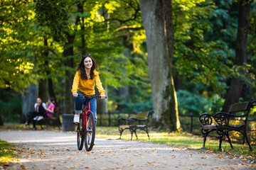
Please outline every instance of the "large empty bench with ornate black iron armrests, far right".
M199 120L201 122L201 132L203 134L203 148L206 147L206 137L210 132L217 132L218 138L220 139L219 151L221 149L221 143L223 137L228 137L228 142L230 147L233 148L233 145L230 140L229 132L237 131L240 132L247 144L249 145L250 151L252 147L250 146L250 141L247 137L247 118L250 113L250 109L256 106L256 101L246 102L246 103L234 103L230 106L228 113L218 112L215 115L209 115L203 113L200 115ZM230 120L243 120L239 121L240 125L231 125ZM244 140L244 143L245 143Z

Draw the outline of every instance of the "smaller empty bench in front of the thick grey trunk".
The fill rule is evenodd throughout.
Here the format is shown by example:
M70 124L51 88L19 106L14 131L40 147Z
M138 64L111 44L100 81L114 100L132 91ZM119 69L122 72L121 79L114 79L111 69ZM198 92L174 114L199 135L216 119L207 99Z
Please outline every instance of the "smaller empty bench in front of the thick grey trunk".
M122 136L122 132L124 132L124 130L129 130L131 132L131 140L132 140L133 133L135 133L137 137L136 130L144 130L149 137L148 125L149 125L149 120L151 120L151 116L153 114L154 114L154 111L148 111L148 112L137 113L137 118L128 118L128 119L119 118L118 124L119 124L120 139Z

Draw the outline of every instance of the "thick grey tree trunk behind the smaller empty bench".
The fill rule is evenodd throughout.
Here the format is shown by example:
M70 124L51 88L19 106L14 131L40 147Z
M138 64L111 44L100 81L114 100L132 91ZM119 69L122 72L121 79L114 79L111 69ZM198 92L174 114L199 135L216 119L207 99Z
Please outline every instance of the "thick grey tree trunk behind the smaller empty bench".
M174 52L174 32L171 18L171 4L164 6L159 0L140 0L142 20L146 30L146 48L148 51L149 75L154 105L154 119L157 128L171 131L180 129L174 81L171 76L171 61ZM170 2L170 1L169 1ZM166 9L169 8L169 9ZM162 12L164 9L164 13ZM165 16L165 17L163 17ZM166 34L164 32L167 21ZM168 35L167 35L168 33ZM167 44L166 42L171 42ZM176 111L175 111L176 109Z

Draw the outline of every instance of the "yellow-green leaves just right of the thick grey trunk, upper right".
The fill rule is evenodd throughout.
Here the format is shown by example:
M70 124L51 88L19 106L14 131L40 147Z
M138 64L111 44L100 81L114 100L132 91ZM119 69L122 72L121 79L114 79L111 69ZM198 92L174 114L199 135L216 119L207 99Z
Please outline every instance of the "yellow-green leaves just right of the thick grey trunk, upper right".
M186 10L180 10L183 3L186 5L186 2L181 2L174 8L178 30L174 53L174 57L177 57L176 67L193 83L202 82L221 93L225 88L225 82L221 79L230 72L223 64L229 49L225 42L207 40L205 37L213 28L210 18L216 16L216 6L211 1L200 1L200 4L195 3L187 6Z

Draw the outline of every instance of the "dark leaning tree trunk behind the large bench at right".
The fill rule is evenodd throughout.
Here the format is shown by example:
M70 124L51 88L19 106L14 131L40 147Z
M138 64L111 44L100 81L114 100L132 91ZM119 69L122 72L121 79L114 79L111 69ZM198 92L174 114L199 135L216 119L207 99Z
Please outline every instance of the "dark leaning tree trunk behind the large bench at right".
M247 30L250 19L250 0L241 0L238 18L238 34L235 47L235 65L242 66L247 62ZM242 74L246 74L243 72ZM242 93L243 81L231 79L230 88L223 105L223 112L227 112L232 103L237 103Z

